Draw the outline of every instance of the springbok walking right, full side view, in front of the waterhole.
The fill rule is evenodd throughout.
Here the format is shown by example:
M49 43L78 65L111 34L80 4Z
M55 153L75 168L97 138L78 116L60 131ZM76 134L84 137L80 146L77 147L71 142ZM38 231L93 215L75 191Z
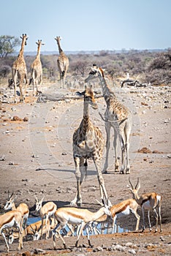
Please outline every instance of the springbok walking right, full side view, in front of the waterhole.
M66 225L79 225L79 231L77 234L77 241L75 243L75 247L77 247L80 234L83 231L83 228L86 227L86 232L88 236L88 244L91 245L90 237L89 237L89 230L88 225L94 222L96 219L101 217L104 214L111 216L110 206L104 203L102 199L102 203L104 206L96 211L95 213L88 211L87 209L75 208L75 207L66 207L66 208L58 208L55 212L54 217L58 221L58 225L53 230L53 246L56 249L56 233L61 238L64 244L64 248L66 248L66 244L64 238L61 237L60 230L64 228Z

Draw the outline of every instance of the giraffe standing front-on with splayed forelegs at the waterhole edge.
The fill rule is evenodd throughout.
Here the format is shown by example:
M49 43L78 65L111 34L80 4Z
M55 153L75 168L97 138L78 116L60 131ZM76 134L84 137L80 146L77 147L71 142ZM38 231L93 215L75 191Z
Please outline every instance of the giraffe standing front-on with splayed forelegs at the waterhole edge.
M75 177L77 179L77 192L74 200L71 202L72 206L75 206L76 204L77 206L80 206L82 203L80 186L86 173L88 158L94 160L101 197L105 197L105 200L108 200L101 170L104 138L99 127L95 127L94 124L92 124L88 113L88 105L91 105L94 109L98 108L94 99L94 91L92 90L92 86L85 86L85 91L80 93L80 95L84 96L84 107L83 119L80 126L74 132L72 143L73 157L75 162ZM84 162L85 160L86 162ZM108 200L108 203L110 203L110 200Z

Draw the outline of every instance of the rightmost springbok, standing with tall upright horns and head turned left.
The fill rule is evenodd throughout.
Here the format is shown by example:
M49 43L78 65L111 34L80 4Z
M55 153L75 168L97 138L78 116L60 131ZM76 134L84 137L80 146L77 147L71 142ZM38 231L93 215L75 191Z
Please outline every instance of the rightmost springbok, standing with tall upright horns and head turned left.
M140 182L139 178L137 178L137 184L135 187L132 186L132 183L129 178L129 183L131 187L129 187L129 190L132 192L132 196L134 200L141 206L142 208L142 218L143 218L143 228L142 232L145 230L145 217L144 217L144 211L148 210L148 222L149 222L149 227L151 231L151 219L150 219L150 211L153 211L156 214L156 230L157 232L157 225L158 225L158 214L156 212L156 208L158 208L159 211L159 219L160 219L160 232L162 231L161 228L161 195L157 194L156 192L152 193L145 193L142 194L141 196L138 195L138 190L140 189Z

